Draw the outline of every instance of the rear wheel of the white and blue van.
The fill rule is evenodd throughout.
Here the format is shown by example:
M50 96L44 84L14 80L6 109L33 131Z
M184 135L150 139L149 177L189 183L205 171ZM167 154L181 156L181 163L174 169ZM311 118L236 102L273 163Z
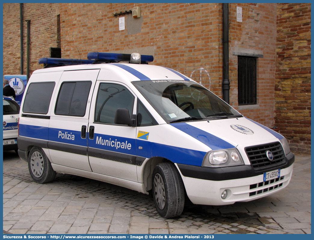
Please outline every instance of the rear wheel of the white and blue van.
M39 147L33 147L28 157L30 176L36 183L49 183L56 177L45 152Z

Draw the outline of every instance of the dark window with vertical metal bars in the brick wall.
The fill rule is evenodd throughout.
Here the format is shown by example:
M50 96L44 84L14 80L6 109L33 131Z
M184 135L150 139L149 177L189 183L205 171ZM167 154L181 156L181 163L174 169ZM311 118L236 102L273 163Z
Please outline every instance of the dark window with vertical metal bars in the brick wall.
M257 103L256 58L238 56L238 102L239 105Z

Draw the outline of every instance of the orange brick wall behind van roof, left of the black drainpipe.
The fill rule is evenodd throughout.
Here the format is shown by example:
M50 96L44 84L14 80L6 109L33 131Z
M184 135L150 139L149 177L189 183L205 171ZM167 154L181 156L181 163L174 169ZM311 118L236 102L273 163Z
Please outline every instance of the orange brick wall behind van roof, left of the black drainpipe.
M141 7L141 18L111 14ZM222 4L98 3L60 5L62 56L86 58L88 52L154 47L154 63L173 68L221 95ZM131 25L140 24L133 34Z

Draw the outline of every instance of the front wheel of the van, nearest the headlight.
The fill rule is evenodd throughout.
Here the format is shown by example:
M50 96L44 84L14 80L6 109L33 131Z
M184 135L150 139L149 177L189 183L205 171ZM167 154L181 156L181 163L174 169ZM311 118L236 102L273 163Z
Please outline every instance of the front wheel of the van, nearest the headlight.
M152 177L153 198L160 216L181 215L184 207L184 185L176 167L164 162L155 166Z

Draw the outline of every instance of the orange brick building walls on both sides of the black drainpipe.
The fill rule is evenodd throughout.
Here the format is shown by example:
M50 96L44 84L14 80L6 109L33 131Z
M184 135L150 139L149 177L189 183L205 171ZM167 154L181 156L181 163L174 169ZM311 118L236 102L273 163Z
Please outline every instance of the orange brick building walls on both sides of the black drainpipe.
M130 33L126 18L120 31L112 13L141 7L141 26ZM236 22L236 6L243 8L243 22ZM230 4L230 104L237 108L237 56L249 50L258 59L257 103L239 108L246 116L268 127L274 123L276 4ZM154 47L154 63L173 68L222 97L222 4L216 3L98 3L60 5L62 56L86 57L92 51L123 51ZM129 18L133 22L129 21Z

